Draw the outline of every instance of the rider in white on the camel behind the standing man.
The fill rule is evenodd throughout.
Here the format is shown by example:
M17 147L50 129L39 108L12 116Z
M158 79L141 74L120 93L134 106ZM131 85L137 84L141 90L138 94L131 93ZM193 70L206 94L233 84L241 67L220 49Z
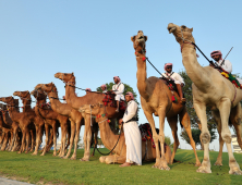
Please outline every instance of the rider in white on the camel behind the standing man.
M119 76L114 76L113 81L116 84L112 86L112 94L116 95L116 101L117 101L116 112L119 112L119 102L120 100L124 100L124 97L123 97L124 85L121 83L121 79Z

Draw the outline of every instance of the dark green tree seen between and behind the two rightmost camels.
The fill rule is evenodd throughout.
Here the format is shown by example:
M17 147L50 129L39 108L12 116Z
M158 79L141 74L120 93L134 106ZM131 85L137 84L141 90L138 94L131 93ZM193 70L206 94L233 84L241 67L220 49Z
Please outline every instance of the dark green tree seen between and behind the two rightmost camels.
M186 110L189 112L190 115L190 120L191 120L191 125L192 125L192 135L193 135L193 139L195 141L195 144L199 144L201 145L201 140L199 137L197 137L197 134L201 134L201 127L198 126L199 124L199 120L196 115L196 112L193 108L193 96L192 96L192 84L193 82L190 79L189 75L182 71L179 72L179 74L182 76L182 78L184 79L185 86L183 87L183 92L186 99ZM208 131L210 133L210 143L216 139L216 122L211 115L211 111L210 108L207 107L206 109L206 115L207 115L207 125L208 125ZM187 137L187 133L185 131L182 131L180 136L182 137L182 139L184 139L187 144L190 144L190 139ZM196 140L195 140L196 139Z

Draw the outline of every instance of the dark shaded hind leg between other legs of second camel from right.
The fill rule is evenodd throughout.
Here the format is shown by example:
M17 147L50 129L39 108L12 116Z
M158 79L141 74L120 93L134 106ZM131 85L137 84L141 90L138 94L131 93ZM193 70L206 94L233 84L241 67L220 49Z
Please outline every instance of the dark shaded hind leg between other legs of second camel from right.
M171 127L172 135L173 135L173 151L171 156L171 164L173 163L174 155L178 149L178 146L180 145L179 139L178 139L178 116L172 116L172 118L167 118L167 121Z

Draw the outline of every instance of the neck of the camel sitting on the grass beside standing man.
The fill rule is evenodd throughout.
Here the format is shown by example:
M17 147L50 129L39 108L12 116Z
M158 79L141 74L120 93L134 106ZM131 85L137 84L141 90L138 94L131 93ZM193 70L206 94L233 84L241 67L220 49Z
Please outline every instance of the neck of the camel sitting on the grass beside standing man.
M107 118L104 118L102 120L100 120L98 125L99 125L99 130L100 130L100 137L101 137L102 144L105 145L105 147L107 149L111 150L114 147L114 145L117 144L119 135L113 134L113 132L111 131L111 128L109 126ZM116 151L116 149L114 149L114 151ZM116 151L116 152L118 153L120 151Z

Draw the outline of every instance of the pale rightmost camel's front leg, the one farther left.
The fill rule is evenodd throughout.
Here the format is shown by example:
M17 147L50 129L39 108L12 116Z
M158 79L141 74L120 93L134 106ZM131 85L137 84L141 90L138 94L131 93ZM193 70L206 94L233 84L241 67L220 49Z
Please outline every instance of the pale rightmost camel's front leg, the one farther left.
M201 120L202 124L202 133L201 137L204 144L204 160L202 162L202 165L196 170L196 172L199 173L211 173L210 171L210 160L209 160L209 141L210 141L210 133L207 128L207 115L206 115L206 106L193 101L194 109L196 111L196 114L198 119Z

